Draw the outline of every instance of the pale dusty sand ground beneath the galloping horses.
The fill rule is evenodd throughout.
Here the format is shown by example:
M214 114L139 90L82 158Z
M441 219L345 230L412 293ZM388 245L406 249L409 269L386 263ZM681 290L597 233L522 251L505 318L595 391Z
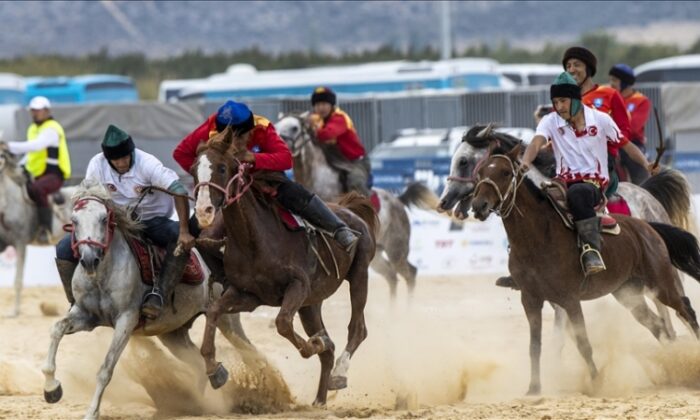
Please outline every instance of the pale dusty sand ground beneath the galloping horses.
M132 342L117 366L102 406L102 418L697 418L700 414L700 344L674 320L680 339L661 346L612 298L584 310L601 370L591 383L568 339L561 358L553 346L553 312L545 308L543 396L523 397L529 379L528 329L519 294L492 286L492 277L421 277L416 295L403 285L391 304L383 279L371 279L366 311L368 339L352 360L349 387L331 393L325 409L313 408L319 362L302 359L271 328L276 311L245 314L244 327L269 360L248 368L218 337L221 360L235 378L222 390L204 393L199 375L155 341ZM700 308L700 287L686 280ZM0 289L0 308L12 291ZM58 317L42 315L42 303L63 305L62 291L31 288L24 315L0 319L0 418L82 418L95 375L111 338L98 329L64 338L57 377L64 398L42 397L49 328ZM336 348L346 340L347 287L324 307ZM301 326L296 323L299 331ZM199 344L203 322L192 331ZM339 352L336 352L336 356ZM250 358L248 358L249 360ZM276 377L275 368L288 386ZM261 374L261 372L266 372ZM149 397L146 389L150 390ZM285 406L291 393L291 402ZM156 402L154 402L154 400ZM282 411L280 406L285 406ZM233 411L232 411L233 410Z

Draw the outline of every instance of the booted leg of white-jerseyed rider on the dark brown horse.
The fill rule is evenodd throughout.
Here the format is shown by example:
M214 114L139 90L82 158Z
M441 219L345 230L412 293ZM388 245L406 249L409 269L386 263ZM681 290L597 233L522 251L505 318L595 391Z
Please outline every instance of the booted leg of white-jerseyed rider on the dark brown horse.
M601 197L600 189L588 182L573 184L566 193L569 210L576 224L581 266L586 276L605 270L600 253L600 219L595 214L595 206Z

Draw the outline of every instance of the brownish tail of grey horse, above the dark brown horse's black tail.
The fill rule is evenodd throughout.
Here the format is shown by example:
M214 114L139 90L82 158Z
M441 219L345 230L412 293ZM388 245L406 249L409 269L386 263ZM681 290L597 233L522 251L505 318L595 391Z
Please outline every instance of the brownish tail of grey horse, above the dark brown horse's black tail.
M640 185L664 207L674 226L688 229L690 221L690 185L680 171L664 169Z

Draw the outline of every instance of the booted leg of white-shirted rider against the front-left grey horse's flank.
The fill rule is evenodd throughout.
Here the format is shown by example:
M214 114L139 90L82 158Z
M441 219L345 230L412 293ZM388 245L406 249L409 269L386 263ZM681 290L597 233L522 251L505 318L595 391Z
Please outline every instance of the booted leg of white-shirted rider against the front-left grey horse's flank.
M150 319L160 316L166 299L169 299L175 285L185 270L189 252L175 255L177 239L180 233L179 224L167 217L158 216L143 222L144 233L154 244L166 248L165 260L160 274L153 279L153 289L144 298L141 312Z

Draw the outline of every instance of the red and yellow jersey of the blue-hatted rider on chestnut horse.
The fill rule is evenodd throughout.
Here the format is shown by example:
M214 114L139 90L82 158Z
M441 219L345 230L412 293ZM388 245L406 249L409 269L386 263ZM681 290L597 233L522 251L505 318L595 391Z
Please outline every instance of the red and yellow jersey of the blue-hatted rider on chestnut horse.
M272 123L259 115L254 116L255 127L248 139L248 150L255 153L255 169L286 171L292 168L292 152L280 138ZM197 159L197 147L216 134L216 113L180 141L173 151L173 158L182 169L189 172Z

